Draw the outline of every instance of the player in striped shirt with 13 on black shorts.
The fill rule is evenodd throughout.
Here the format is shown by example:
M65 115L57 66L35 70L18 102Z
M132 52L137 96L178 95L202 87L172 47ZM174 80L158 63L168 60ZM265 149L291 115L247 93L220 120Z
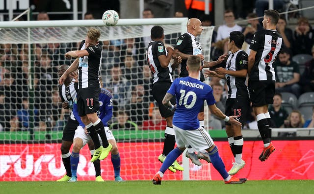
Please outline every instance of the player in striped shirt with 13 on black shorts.
M244 35L240 31L230 33L228 41L228 50L231 54L228 56L226 68L216 68L214 76L226 79L228 85L228 99L226 101L226 115L236 116L238 121L246 123L247 111L250 107L249 91L246 85L247 61L248 55L241 50L244 43ZM208 73L205 73L208 74ZM237 173L245 165L242 160L243 136L241 126L226 122L226 133L232 153L235 157L233 167L228 171L230 175Z

